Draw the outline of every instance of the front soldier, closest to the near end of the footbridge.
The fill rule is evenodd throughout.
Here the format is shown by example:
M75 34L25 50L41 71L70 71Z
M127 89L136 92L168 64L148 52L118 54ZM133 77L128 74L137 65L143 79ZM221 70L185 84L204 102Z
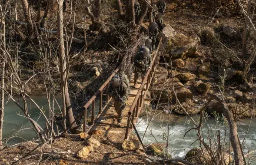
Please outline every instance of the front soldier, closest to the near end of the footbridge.
M126 100L130 92L129 80L127 75L119 73L112 77L108 95L114 99L114 107L117 112L117 126L121 127L123 110L126 107Z

